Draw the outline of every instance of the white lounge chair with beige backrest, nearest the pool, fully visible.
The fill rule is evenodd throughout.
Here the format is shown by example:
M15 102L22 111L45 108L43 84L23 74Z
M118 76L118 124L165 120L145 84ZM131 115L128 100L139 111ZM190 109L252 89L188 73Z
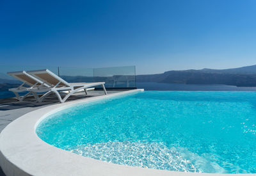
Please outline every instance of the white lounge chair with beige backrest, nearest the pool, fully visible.
M51 85L50 88L29 88L28 90L31 92L46 92L38 101L42 102L45 97L49 96L51 93L55 93L59 99L59 101L65 102L70 95L73 93L79 92L80 90L84 90L85 94L87 95L86 88L94 87L94 86L102 86L104 93L107 95L104 82L98 83L68 83L67 81L61 79L61 77L57 76L56 74L52 73L50 70L33 70L28 71L28 74L36 77L43 81L43 83ZM60 96L60 92L67 91L68 93L63 97Z

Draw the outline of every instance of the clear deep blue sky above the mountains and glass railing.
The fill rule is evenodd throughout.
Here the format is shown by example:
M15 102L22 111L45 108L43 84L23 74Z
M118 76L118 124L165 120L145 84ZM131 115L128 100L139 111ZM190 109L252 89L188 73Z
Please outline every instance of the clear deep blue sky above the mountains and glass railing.
M256 64L256 1L0 1L1 64L136 65L138 74Z

